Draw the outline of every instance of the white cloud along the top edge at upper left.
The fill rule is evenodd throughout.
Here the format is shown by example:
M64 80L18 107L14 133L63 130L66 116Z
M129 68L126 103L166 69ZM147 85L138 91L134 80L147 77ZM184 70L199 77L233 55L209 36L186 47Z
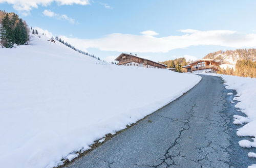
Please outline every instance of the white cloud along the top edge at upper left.
M32 10L32 8L38 8L39 6L48 6L52 2L58 3L58 5L89 5L89 0L0 0L1 3L12 4L13 8L24 14ZM24 12L26 11L26 12Z

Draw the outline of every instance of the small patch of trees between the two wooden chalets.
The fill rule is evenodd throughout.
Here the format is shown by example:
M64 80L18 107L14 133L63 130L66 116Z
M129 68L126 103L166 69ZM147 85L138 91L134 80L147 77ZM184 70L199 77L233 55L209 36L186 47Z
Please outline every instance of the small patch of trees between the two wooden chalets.
M177 72L185 72L185 69L182 68L182 66L187 65L185 58L178 58L175 60L168 60L160 63L167 65L167 68L175 68Z

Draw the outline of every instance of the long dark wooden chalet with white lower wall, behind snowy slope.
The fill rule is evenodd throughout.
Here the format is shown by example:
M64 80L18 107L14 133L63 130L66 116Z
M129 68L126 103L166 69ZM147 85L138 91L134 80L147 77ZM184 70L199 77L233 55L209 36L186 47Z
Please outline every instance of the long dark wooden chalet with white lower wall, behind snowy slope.
M167 68L166 65L160 64L151 60L142 59L137 55L121 53L115 61L118 61L118 65L124 66L137 66L144 68Z

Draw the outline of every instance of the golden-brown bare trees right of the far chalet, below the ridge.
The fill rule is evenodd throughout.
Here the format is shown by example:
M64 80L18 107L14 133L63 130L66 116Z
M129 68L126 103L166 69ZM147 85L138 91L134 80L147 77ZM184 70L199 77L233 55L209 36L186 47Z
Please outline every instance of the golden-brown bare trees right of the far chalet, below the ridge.
M256 61L239 60L236 63L236 68L220 68L220 74L236 75L243 77L256 77Z

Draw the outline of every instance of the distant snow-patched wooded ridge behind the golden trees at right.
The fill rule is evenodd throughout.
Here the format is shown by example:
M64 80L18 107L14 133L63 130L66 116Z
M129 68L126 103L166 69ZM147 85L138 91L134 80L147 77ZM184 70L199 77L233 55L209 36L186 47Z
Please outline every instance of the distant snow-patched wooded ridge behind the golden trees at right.
M203 59L214 59L221 61L221 64L236 65L239 60L256 61L256 49L219 50L207 54Z

